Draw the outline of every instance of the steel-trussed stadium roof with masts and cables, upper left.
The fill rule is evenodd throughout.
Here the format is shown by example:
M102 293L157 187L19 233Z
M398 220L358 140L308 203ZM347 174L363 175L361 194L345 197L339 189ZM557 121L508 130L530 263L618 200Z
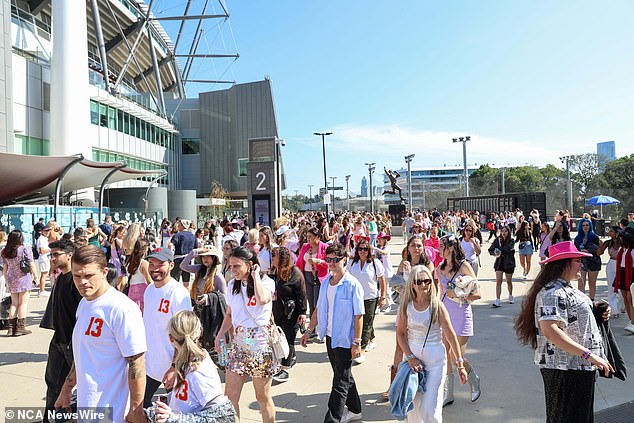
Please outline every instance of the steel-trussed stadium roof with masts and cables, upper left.
M148 93L165 115L164 92L185 97L187 83L234 83L215 79L188 80L195 61L232 58L238 53L206 51L201 43L210 20L229 19L223 0L187 0L182 2L182 14L155 15L157 0L89 0L87 34L89 66L104 75L108 91L116 94L127 85L141 93ZM200 4L202 3L202 4ZM219 7L220 12L216 12ZM50 35L51 0L13 0L14 13L19 9L33 15L38 28ZM170 6L169 11L176 9ZM173 42L161 22L179 22ZM195 24L190 37L185 37L188 23ZM191 25L190 25L191 29ZM186 41L185 41L186 40ZM108 77L105 77L105 76ZM160 89L159 89L160 87ZM124 88L125 89L125 88Z

